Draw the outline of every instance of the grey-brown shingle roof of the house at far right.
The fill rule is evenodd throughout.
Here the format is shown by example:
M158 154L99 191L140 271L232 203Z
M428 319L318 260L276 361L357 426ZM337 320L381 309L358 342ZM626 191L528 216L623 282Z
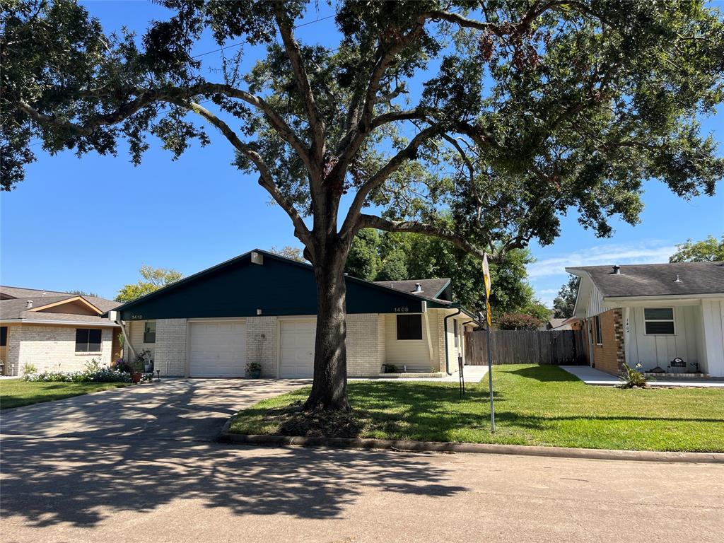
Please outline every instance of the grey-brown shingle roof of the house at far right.
M586 271L605 298L724 295L723 262L623 265L618 274L613 266L575 266L566 270Z

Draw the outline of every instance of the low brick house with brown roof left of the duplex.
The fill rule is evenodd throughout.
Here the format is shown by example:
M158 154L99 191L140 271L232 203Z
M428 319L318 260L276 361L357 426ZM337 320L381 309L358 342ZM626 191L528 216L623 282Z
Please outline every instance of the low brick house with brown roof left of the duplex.
M4 375L79 371L95 358L108 366L120 353L120 327L101 317L118 302L20 287L0 286L0 365Z

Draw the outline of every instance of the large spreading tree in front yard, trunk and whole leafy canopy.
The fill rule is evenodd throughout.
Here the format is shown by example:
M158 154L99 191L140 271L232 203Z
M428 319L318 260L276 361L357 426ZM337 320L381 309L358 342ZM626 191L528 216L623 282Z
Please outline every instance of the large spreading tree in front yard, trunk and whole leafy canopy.
M135 163L149 135L173 156L211 137L230 146L314 268L308 409L349 408L344 266L358 230L499 260L552 243L568 211L597 235L613 215L635 223L644 180L690 198L724 172L699 125L724 72L722 15L704 0L340 0L329 47L295 34L316 3L159 3L167 17L138 39L69 0L4 3L2 186L23 179L35 140L83 155L125 138ZM222 70L195 58L202 35L235 46L217 53Z

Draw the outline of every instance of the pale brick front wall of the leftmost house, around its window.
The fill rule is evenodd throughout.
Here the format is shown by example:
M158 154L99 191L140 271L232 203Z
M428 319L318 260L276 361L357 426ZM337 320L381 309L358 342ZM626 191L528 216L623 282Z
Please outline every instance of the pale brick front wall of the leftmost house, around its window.
M81 371L93 358L109 366L113 328L101 328L100 353L75 353L75 326L22 324L8 327L7 375L22 375L25 364L38 371ZM91 328L91 327L84 327Z

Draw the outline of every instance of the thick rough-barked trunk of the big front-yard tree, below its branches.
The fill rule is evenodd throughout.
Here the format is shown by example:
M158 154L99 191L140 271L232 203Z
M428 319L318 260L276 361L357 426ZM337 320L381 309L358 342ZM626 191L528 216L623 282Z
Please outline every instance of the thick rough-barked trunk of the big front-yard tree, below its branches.
M317 286L314 382L305 410L350 411L347 400L347 287L344 251L324 251L314 263Z

